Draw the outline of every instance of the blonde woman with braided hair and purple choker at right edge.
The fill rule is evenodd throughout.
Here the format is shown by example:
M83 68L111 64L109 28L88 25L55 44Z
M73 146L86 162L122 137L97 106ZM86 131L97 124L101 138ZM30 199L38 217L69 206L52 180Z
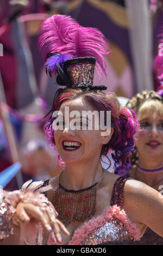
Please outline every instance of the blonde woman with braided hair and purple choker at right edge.
M133 169L130 177L146 183L162 193L163 181L163 101L162 90L136 94L127 103L140 122L141 132L137 136L135 150L131 156ZM162 245L162 237L147 229L138 243L140 245Z

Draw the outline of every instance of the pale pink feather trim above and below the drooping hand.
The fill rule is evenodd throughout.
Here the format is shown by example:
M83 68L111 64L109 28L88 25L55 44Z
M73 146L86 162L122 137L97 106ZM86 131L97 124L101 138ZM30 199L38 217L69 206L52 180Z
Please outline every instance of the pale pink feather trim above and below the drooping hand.
M55 211L53 205L48 201L48 199L45 197L43 192L51 189L51 185L39 188L43 182L33 182L32 180L27 181L23 184L21 190L15 190L13 192L9 192L7 196L5 197L4 201L5 203L10 204L10 210L12 213L16 212L16 206L17 204L22 201L23 203L32 203L35 206L40 206L41 209L49 207L49 211L51 211L51 215L54 217L57 217L58 213ZM31 183L31 184L30 184ZM28 224L24 224L20 222L20 244L24 245L35 245L36 244L36 237L37 237L37 243L39 245L42 245L42 225L40 222L32 221Z

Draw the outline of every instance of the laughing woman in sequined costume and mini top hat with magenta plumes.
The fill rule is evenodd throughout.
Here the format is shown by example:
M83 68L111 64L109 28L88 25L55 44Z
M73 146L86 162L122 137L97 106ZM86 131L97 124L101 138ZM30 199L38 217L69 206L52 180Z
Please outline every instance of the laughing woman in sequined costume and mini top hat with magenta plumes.
M55 94L52 116L45 125L49 143L65 163L59 176L43 184L51 184L46 195L58 212L52 217L55 232L48 243L120 245L140 240L146 227L163 236L162 195L125 176L139 130L135 112L121 109L114 93L102 92L105 86L93 86L95 64L99 77L106 75L103 55L109 47L104 35L95 28L81 27L71 17L54 15L41 24L39 46L49 74L57 75L58 84L66 86ZM104 126L99 126L101 118L97 122L96 115L83 118L83 111L91 117L103 111ZM103 134L108 111L109 133ZM115 152L115 174L101 165L109 150ZM57 221L66 227L62 235Z

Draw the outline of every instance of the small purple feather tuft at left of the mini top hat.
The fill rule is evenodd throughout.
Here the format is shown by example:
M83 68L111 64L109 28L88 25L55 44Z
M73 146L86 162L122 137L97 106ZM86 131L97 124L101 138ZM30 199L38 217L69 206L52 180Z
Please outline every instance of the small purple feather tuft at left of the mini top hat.
M57 74L57 66L56 64L60 64L61 67L63 67L64 62L67 61L67 59L73 58L72 55L68 53L61 53L57 55L53 55L47 59L45 62L45 67L47 68L48 72Z

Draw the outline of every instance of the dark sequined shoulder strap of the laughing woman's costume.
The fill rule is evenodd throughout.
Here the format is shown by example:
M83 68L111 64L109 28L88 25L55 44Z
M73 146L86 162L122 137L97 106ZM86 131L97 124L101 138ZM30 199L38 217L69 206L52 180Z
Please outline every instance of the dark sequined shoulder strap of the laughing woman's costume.
M127 176L124 177L118 177L117 180L114 183L114 186L112 188L112 194L111 194L111 200L110 205L117 205L122 206L123 203L123 194L124 194L124 185L126 181L129 180Z

